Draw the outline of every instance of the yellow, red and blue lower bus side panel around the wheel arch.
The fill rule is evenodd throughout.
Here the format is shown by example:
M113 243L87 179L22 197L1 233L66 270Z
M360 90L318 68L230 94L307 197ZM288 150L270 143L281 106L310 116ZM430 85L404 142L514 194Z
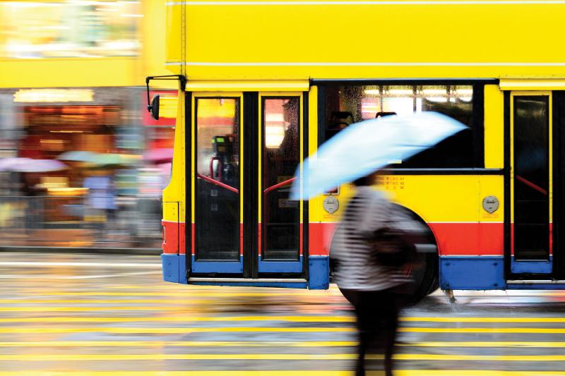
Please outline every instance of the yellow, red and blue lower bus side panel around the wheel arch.
M408 208L432 230L439 250L443 289L504 289L504 176L502 175L383 175L380 188ZM340 213L352 187L340 187L340 208L335 214L320 210L319 223L311 223L311 253L327 255ZM487 196L499 200L488 213ZM320 208L314 199L311 207Z

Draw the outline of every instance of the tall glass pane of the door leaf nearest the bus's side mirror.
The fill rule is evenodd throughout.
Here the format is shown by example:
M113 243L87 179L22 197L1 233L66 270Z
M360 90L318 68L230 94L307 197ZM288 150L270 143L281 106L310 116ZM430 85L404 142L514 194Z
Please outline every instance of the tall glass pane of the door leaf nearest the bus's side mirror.
M196 260L239 260L239 99L196 98Z

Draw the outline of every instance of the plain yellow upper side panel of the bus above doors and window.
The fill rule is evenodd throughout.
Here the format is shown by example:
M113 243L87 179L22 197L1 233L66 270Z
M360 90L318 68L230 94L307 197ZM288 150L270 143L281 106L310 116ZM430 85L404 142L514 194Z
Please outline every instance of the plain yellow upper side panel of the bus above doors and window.
M167 4L168 67L178 71L179 59L184 60L191 80L565 75L565 66L558 63L565 61L565 50L550 37L562 33L565 4L442 3L173 1ZM183 6L189 19L184 23ZM454 20L456 32L446 32L446 20ZM375 22L386 30L386 54L368 42ZM533 23L535 32L524 27ZM347 25L355 27L344 32ZM418 42L422 32L441 49ZM285 54L273 36L288 41Z

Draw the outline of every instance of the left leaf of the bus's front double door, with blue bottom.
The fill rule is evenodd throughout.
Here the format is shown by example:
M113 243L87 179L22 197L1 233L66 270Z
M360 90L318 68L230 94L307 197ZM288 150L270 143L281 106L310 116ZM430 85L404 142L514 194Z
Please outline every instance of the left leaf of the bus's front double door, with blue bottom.
M242 96L193 95L191 273L242 274Z

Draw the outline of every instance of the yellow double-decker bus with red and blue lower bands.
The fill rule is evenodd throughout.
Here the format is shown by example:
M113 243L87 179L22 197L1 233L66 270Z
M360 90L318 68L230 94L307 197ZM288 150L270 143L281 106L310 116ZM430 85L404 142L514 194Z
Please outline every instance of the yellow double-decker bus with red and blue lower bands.
M437 111L468 129L395 161L381 189L429 228L442 289L565 287L565 1L169 1L179 79L163 276L326 289L349 184L289 200L349 124Z

